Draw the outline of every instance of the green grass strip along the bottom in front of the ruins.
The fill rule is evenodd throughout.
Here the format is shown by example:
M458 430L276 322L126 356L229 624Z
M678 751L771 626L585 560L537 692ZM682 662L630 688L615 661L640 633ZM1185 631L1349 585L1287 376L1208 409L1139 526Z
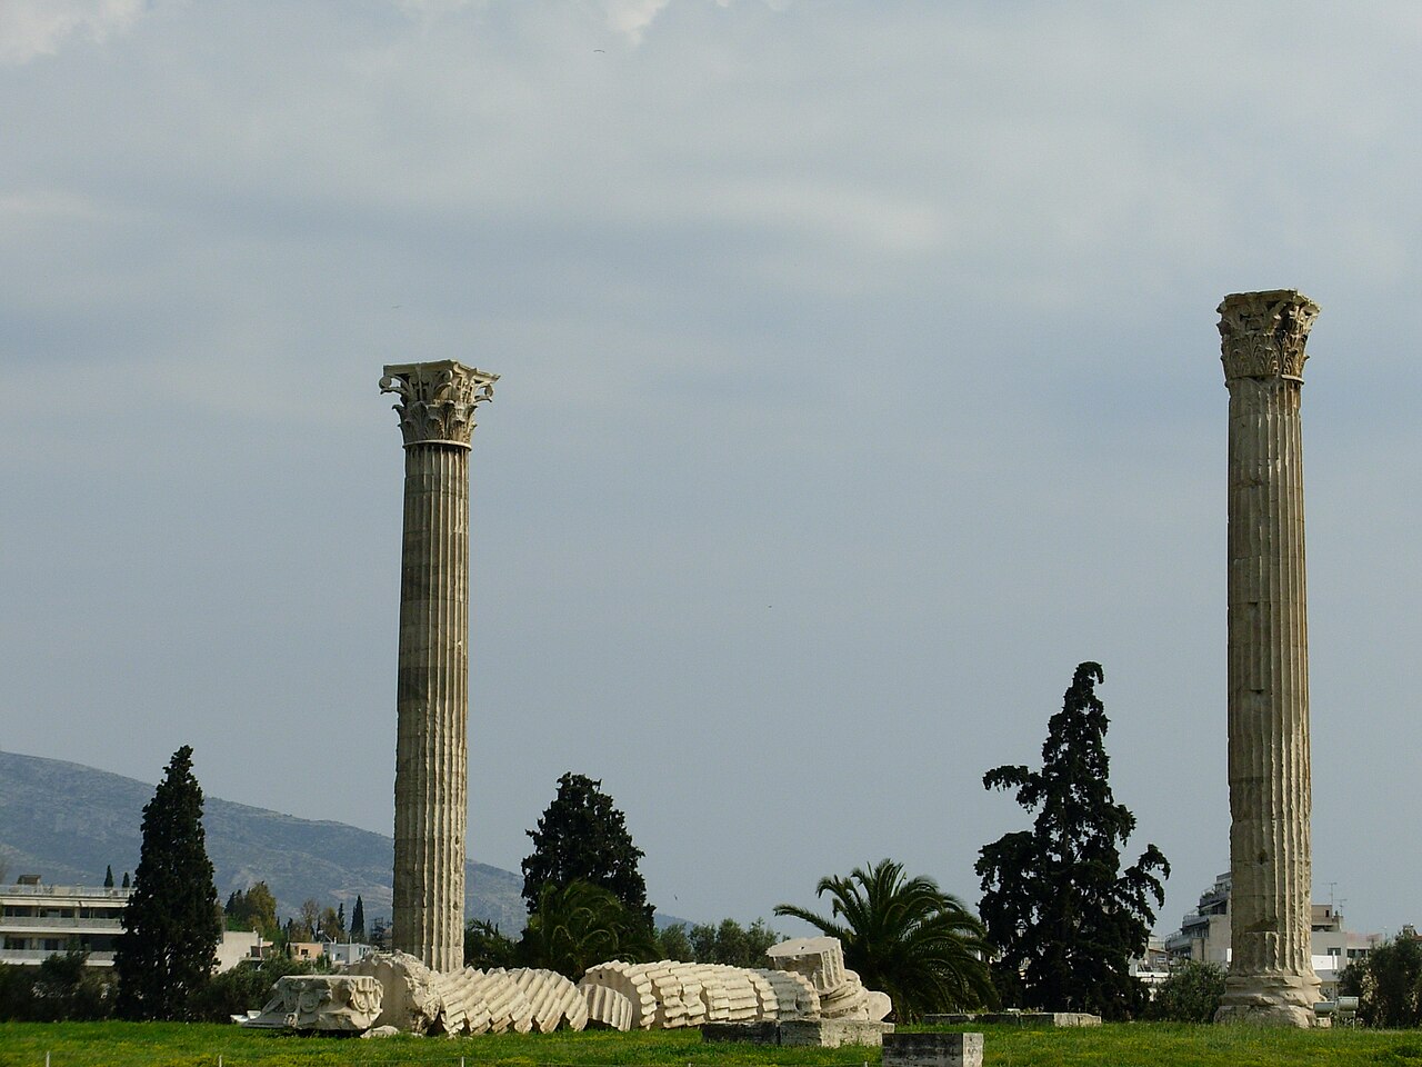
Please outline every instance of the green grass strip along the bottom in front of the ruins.
M1250 1030L1128 1023L1085 1030L983 1027L985 1063L1003 1067L1422 1067L1422 1031ZM701 1044L695 1030L619 1034L501 1034L363 1041L235 1026L175 1023L0 1023L0 1067L875 1067L877 1049Z

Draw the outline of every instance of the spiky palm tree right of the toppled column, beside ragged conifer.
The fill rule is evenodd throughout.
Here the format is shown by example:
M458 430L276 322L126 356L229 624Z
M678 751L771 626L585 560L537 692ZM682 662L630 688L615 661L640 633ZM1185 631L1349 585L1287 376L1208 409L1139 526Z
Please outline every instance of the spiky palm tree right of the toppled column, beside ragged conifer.
M866 987L889 994L899 1021L994 1002L983 923L931 878L906 878L903 864L882 859L867 872L856 866L849 878L820 878L815 895L825 893L829 918L788 903L775 913L839 938L845 966Z

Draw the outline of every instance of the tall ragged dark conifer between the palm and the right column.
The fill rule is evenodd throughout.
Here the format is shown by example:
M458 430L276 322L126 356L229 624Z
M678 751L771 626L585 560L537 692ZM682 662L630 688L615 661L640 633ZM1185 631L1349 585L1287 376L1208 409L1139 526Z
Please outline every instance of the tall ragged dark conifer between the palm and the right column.
M1102 677L1098 663L1076 667L1047 724L1039 771L1004 765L983 775L985 788L1015 788L1017 802L1038 814L1032 829L983 846L978 908L998 947L993 977L1004 1000L1129 1019L1148 1000L1129 960L1146 947L1149 898L1165 902L1152 872L1169 878L1170 864L1148 845L1121 871L1119 846L1136 819L1111 792Z

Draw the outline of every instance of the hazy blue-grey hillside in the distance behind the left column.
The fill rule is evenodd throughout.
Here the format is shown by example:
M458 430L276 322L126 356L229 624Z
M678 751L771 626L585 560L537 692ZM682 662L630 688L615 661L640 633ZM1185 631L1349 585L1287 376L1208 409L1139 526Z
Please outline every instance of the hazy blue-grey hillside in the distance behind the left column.
M0 862L7 882L37 874L60 885L100 885L138 866L144 805L156 782L141 782L75 763L0 751ZM343 822L313 822L208 797L203 804L208 855L218 893L264 881L283 913L311 898L344 902L360 893L370 918L390 916L394 841ZM509 935L523 929L523 878L469 864L465 915L496 922Z

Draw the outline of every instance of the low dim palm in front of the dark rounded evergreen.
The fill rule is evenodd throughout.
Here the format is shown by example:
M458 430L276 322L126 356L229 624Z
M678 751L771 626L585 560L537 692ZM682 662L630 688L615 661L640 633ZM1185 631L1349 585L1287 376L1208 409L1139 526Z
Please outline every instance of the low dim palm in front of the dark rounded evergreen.
M525 967L556 970L577 982L586 970L611 959L647 962L657 942L641 920L609 889L577 878L549 882L518 945Z

